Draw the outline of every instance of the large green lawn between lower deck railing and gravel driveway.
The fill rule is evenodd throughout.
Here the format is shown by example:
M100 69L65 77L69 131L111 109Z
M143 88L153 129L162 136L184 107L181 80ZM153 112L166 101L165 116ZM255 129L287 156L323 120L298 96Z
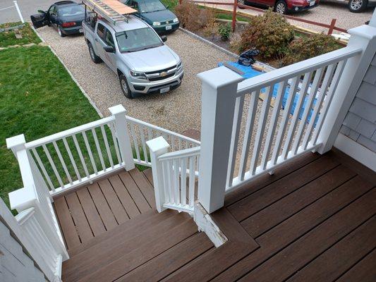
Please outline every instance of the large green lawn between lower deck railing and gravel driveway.
M0 196L22 188L18 163L6 138L35 140L99 118L48 47L0 51Z

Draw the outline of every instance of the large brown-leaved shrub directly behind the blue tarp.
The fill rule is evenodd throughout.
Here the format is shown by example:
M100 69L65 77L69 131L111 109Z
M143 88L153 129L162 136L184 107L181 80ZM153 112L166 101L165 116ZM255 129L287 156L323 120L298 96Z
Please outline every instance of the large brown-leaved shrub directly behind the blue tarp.
M250 25L241 35L238 53L255 47L265 59L283 56L293 37L293 26L283 16L269 9L262 16L250 20Z

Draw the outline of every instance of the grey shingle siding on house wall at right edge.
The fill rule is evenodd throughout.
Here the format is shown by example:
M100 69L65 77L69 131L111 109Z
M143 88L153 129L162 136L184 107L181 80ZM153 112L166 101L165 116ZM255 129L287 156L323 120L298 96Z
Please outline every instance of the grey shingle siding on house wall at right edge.
M376 152L376 55L348 110L341 133Z

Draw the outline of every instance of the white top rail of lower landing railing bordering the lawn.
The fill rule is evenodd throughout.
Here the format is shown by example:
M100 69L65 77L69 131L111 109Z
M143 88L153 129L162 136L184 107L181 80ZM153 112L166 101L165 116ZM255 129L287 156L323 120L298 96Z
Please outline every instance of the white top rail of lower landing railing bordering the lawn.
M28 142L25 144L25 147L27 149L40 147L42 145L46 145L48 143L54 142L56 140L61 140L63 137L69 137L72 135L75 135L76 133L80 133L86 130L90 130L92 128L97 128L100 125L105 125L107 123L110 123L111 121L114 121L114 116L109 116L107 118L101 118L98 121L92 121L91 123L85 123L83 125L79 125L75 128L70 128L68 130L61 131L59 133L55 133L46 137L42 137L40 139Z

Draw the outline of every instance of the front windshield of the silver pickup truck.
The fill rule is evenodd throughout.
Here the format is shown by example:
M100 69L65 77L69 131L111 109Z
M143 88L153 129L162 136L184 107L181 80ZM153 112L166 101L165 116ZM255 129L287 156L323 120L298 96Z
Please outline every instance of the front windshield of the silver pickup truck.
M116 33L121 52L134 52L163 45L162 40L150 27Z

